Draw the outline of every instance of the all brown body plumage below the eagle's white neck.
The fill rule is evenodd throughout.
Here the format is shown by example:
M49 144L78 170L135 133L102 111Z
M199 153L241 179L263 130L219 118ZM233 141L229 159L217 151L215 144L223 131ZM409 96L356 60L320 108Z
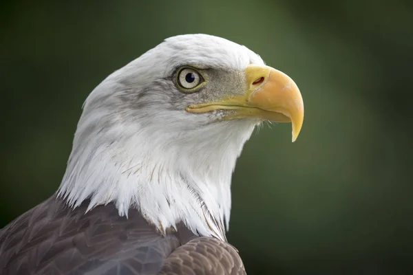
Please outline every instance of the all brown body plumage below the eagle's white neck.
M50 197L0 230L0 274L239 275L235 248L180 225L161 236L138 210L113 204L86 212Z

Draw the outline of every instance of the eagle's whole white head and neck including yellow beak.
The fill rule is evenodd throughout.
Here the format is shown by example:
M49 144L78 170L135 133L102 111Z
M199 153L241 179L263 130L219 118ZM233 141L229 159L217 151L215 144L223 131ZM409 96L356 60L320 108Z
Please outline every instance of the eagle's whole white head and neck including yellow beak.
M235 162L264 120L291 122L296 140L304 104L290 77L226 39L173 36L89 94L59 195L225 239Z

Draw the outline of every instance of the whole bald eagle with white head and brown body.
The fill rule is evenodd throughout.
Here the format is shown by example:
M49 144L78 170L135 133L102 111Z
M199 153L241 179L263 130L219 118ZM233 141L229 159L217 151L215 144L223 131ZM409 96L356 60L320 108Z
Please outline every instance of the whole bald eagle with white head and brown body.
M231 175L264 120L297 138L291 78L226 39L165 39L89 94L59 190L0 231L0 273L246 274Z

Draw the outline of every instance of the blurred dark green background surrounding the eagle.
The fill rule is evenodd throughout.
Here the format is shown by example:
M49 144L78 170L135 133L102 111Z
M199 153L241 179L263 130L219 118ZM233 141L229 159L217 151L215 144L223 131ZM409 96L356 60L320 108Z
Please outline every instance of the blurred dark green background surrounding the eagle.
M306 116L247 142L229 241L253 274L407 274L413 265L412 1L0 2L0 228L59 187L81 106L176 34L246 45Z

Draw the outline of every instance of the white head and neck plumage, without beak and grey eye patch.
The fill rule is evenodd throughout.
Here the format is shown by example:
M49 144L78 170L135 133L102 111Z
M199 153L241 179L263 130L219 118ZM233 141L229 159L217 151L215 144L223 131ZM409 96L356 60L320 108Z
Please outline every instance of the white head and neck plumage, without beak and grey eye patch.
M257 121L212 123L155 84L180 65L242 73L251 63L264 64L242 45L189 34L118 69L85 101L59 195L74 207L91 199L89 209L113 202L121 216L138 208L160 232L183 221L224 240L231 175Z

